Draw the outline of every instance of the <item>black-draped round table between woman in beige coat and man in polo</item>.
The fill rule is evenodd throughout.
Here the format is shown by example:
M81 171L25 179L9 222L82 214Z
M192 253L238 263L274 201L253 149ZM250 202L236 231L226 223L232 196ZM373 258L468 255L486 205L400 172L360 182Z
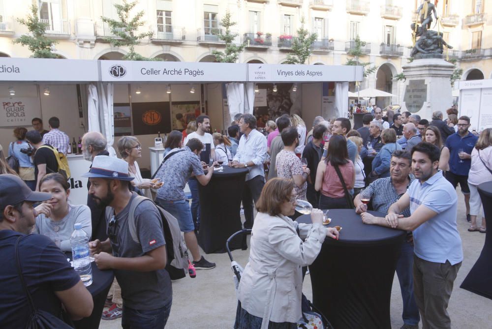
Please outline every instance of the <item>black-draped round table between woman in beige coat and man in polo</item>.
M314 305L337 329L391 329L391 288L406 233L363 224L353 209L331 209L328 217L342 230L338 240L325 239L309 266ZM310 223L310 215L297 221Z

